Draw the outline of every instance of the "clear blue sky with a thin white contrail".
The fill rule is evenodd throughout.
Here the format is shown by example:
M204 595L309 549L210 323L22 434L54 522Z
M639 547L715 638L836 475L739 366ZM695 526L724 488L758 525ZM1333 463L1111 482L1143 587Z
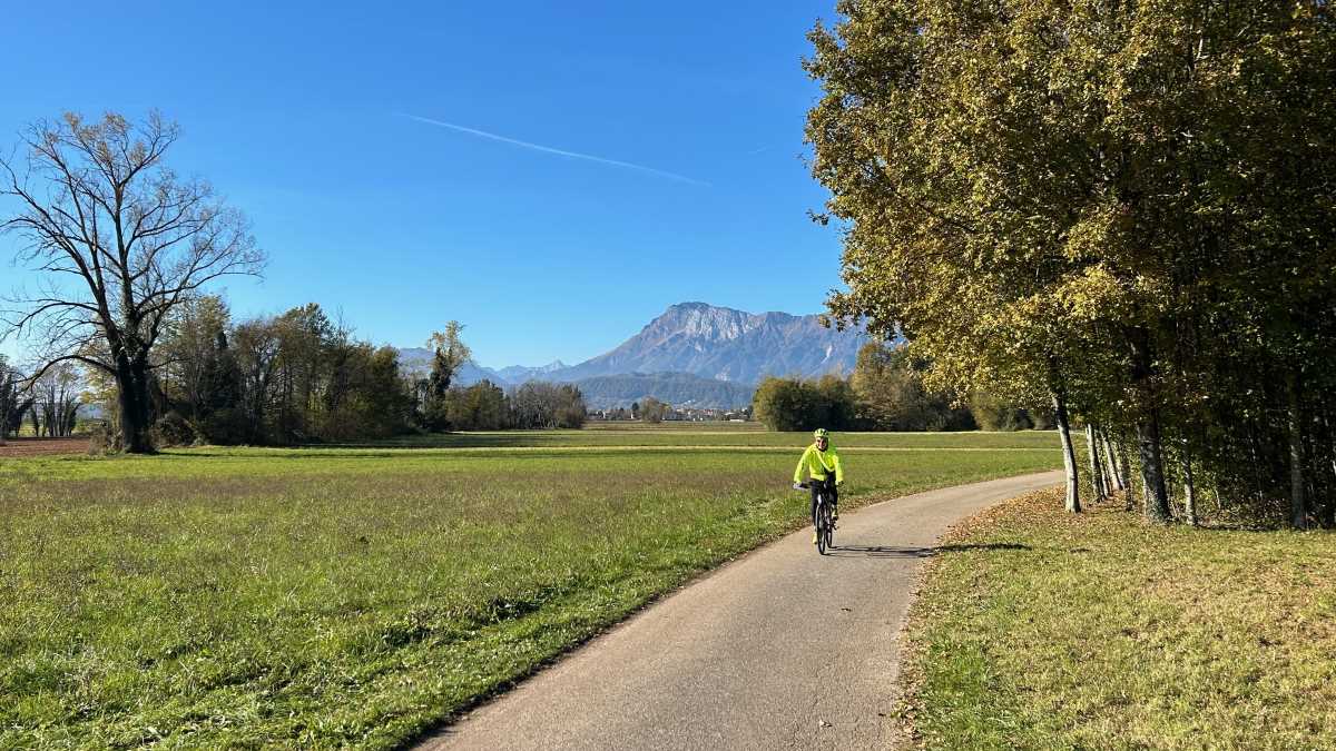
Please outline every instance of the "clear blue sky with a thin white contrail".
M832 7L13 3L0 148L67 110L159 108L171 164L270 254L226 283L234 313L314 301L401 346L457 318L485 365L576 362L675 302L820 310L839 238L806 215L800 59Z

